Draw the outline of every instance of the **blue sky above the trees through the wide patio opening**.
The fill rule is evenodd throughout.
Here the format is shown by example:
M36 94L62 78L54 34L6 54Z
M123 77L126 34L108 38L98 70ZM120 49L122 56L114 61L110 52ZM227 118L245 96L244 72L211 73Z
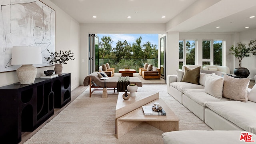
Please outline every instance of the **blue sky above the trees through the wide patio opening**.
M97 34L97 36L99 37L99 42L101 42L103 36L110 36L114 41L112 44L112 47L114 48L116 47L118 40L122 42L127 40L127 42L132 45L132 43L134 43L140 36L142 37L141 44L149 41L151 44L156 44L158 46L158 34Z

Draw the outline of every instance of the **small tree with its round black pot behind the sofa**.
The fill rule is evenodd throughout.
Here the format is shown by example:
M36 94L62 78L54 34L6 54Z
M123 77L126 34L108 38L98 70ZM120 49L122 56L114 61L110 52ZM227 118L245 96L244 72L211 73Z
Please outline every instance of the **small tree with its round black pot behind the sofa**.
M238 42L236 47L232 45L229 50L231 51L230 54L233 54L236 58L238 58L239 62L239 67L234 69L234 74L236 76L240 76L241 78L247 78L250 75L250 72L248 68L241 67L241 61L245 57L250 57L251 54L253 56L256 55L256 39L250 40L248 47L246 47L245 43Z

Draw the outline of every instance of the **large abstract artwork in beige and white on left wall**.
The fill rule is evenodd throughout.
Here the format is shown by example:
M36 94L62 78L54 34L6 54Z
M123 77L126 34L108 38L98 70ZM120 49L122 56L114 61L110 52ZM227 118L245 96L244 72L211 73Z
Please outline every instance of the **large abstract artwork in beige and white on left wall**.
M12 46L38 46L44 57L55 51L55 10L40 0L0 0L0 72L13 71Z

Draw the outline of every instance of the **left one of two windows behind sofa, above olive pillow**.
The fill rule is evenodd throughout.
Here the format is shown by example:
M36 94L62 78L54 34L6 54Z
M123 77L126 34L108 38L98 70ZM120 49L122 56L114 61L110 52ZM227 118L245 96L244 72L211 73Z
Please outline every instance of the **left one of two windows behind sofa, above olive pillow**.
M195 41L179 40L179 69L183 65L195 64Z

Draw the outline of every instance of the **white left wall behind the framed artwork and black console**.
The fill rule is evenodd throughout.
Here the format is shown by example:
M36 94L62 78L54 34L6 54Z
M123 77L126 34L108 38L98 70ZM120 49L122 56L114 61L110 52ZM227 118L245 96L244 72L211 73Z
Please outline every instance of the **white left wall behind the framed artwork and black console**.
M50 0L41 0L56 12L55 49L56 51L74 52L75 60L68 61L63 65L63 72L71 73L71 90L79 86L79 50L80 50L80 26L79 23L68 14L58 8ZM38 68L37 78L44 75L44 70L53 70L54 66ZM0 86L5 86L19 82L16 71L0 73Z

